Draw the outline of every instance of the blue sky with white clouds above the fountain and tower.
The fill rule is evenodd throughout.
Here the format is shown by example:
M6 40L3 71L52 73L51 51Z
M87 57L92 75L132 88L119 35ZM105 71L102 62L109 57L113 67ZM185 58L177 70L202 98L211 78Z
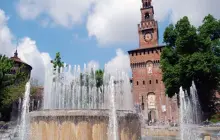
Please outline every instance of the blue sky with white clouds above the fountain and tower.
M195 26L208 14L220 19L220 0L152 1L160 44L165 28L183 16ZM1 0L0 54L18 48L40 82L56 52L67 64L130 72L127 51L139 45L140 7L141 0Z

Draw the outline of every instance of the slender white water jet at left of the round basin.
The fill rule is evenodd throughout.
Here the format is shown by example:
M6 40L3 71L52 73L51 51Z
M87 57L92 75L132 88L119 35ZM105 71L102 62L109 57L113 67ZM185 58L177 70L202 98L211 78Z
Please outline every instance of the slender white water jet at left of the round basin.
M21 120L19 126L19 140L27 140L28 138L28 112L30 99L30 82L25 86L25 94L22 103Z

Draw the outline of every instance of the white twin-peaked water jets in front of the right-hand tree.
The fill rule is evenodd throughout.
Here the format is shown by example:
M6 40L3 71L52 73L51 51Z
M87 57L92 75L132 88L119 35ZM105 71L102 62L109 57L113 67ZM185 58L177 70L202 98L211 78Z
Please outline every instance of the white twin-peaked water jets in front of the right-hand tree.
M180 136L181 140L199 140L198 124L201 122L201 108L195 83L192 82L190 94L180 88Z

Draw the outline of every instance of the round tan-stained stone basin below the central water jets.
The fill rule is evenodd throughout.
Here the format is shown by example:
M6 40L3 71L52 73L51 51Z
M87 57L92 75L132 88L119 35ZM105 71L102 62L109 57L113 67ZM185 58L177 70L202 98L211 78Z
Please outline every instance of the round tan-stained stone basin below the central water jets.
M110 140L109 110L30 112L31 140ZM139 140L141 123L132 111L117 111L120 140Z

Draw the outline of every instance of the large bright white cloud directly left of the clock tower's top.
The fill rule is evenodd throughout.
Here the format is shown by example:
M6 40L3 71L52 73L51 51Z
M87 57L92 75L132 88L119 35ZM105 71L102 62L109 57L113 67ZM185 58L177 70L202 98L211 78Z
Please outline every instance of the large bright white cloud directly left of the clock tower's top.
M89 36L100 44L137 40L141 0L100 0L88 17Z

